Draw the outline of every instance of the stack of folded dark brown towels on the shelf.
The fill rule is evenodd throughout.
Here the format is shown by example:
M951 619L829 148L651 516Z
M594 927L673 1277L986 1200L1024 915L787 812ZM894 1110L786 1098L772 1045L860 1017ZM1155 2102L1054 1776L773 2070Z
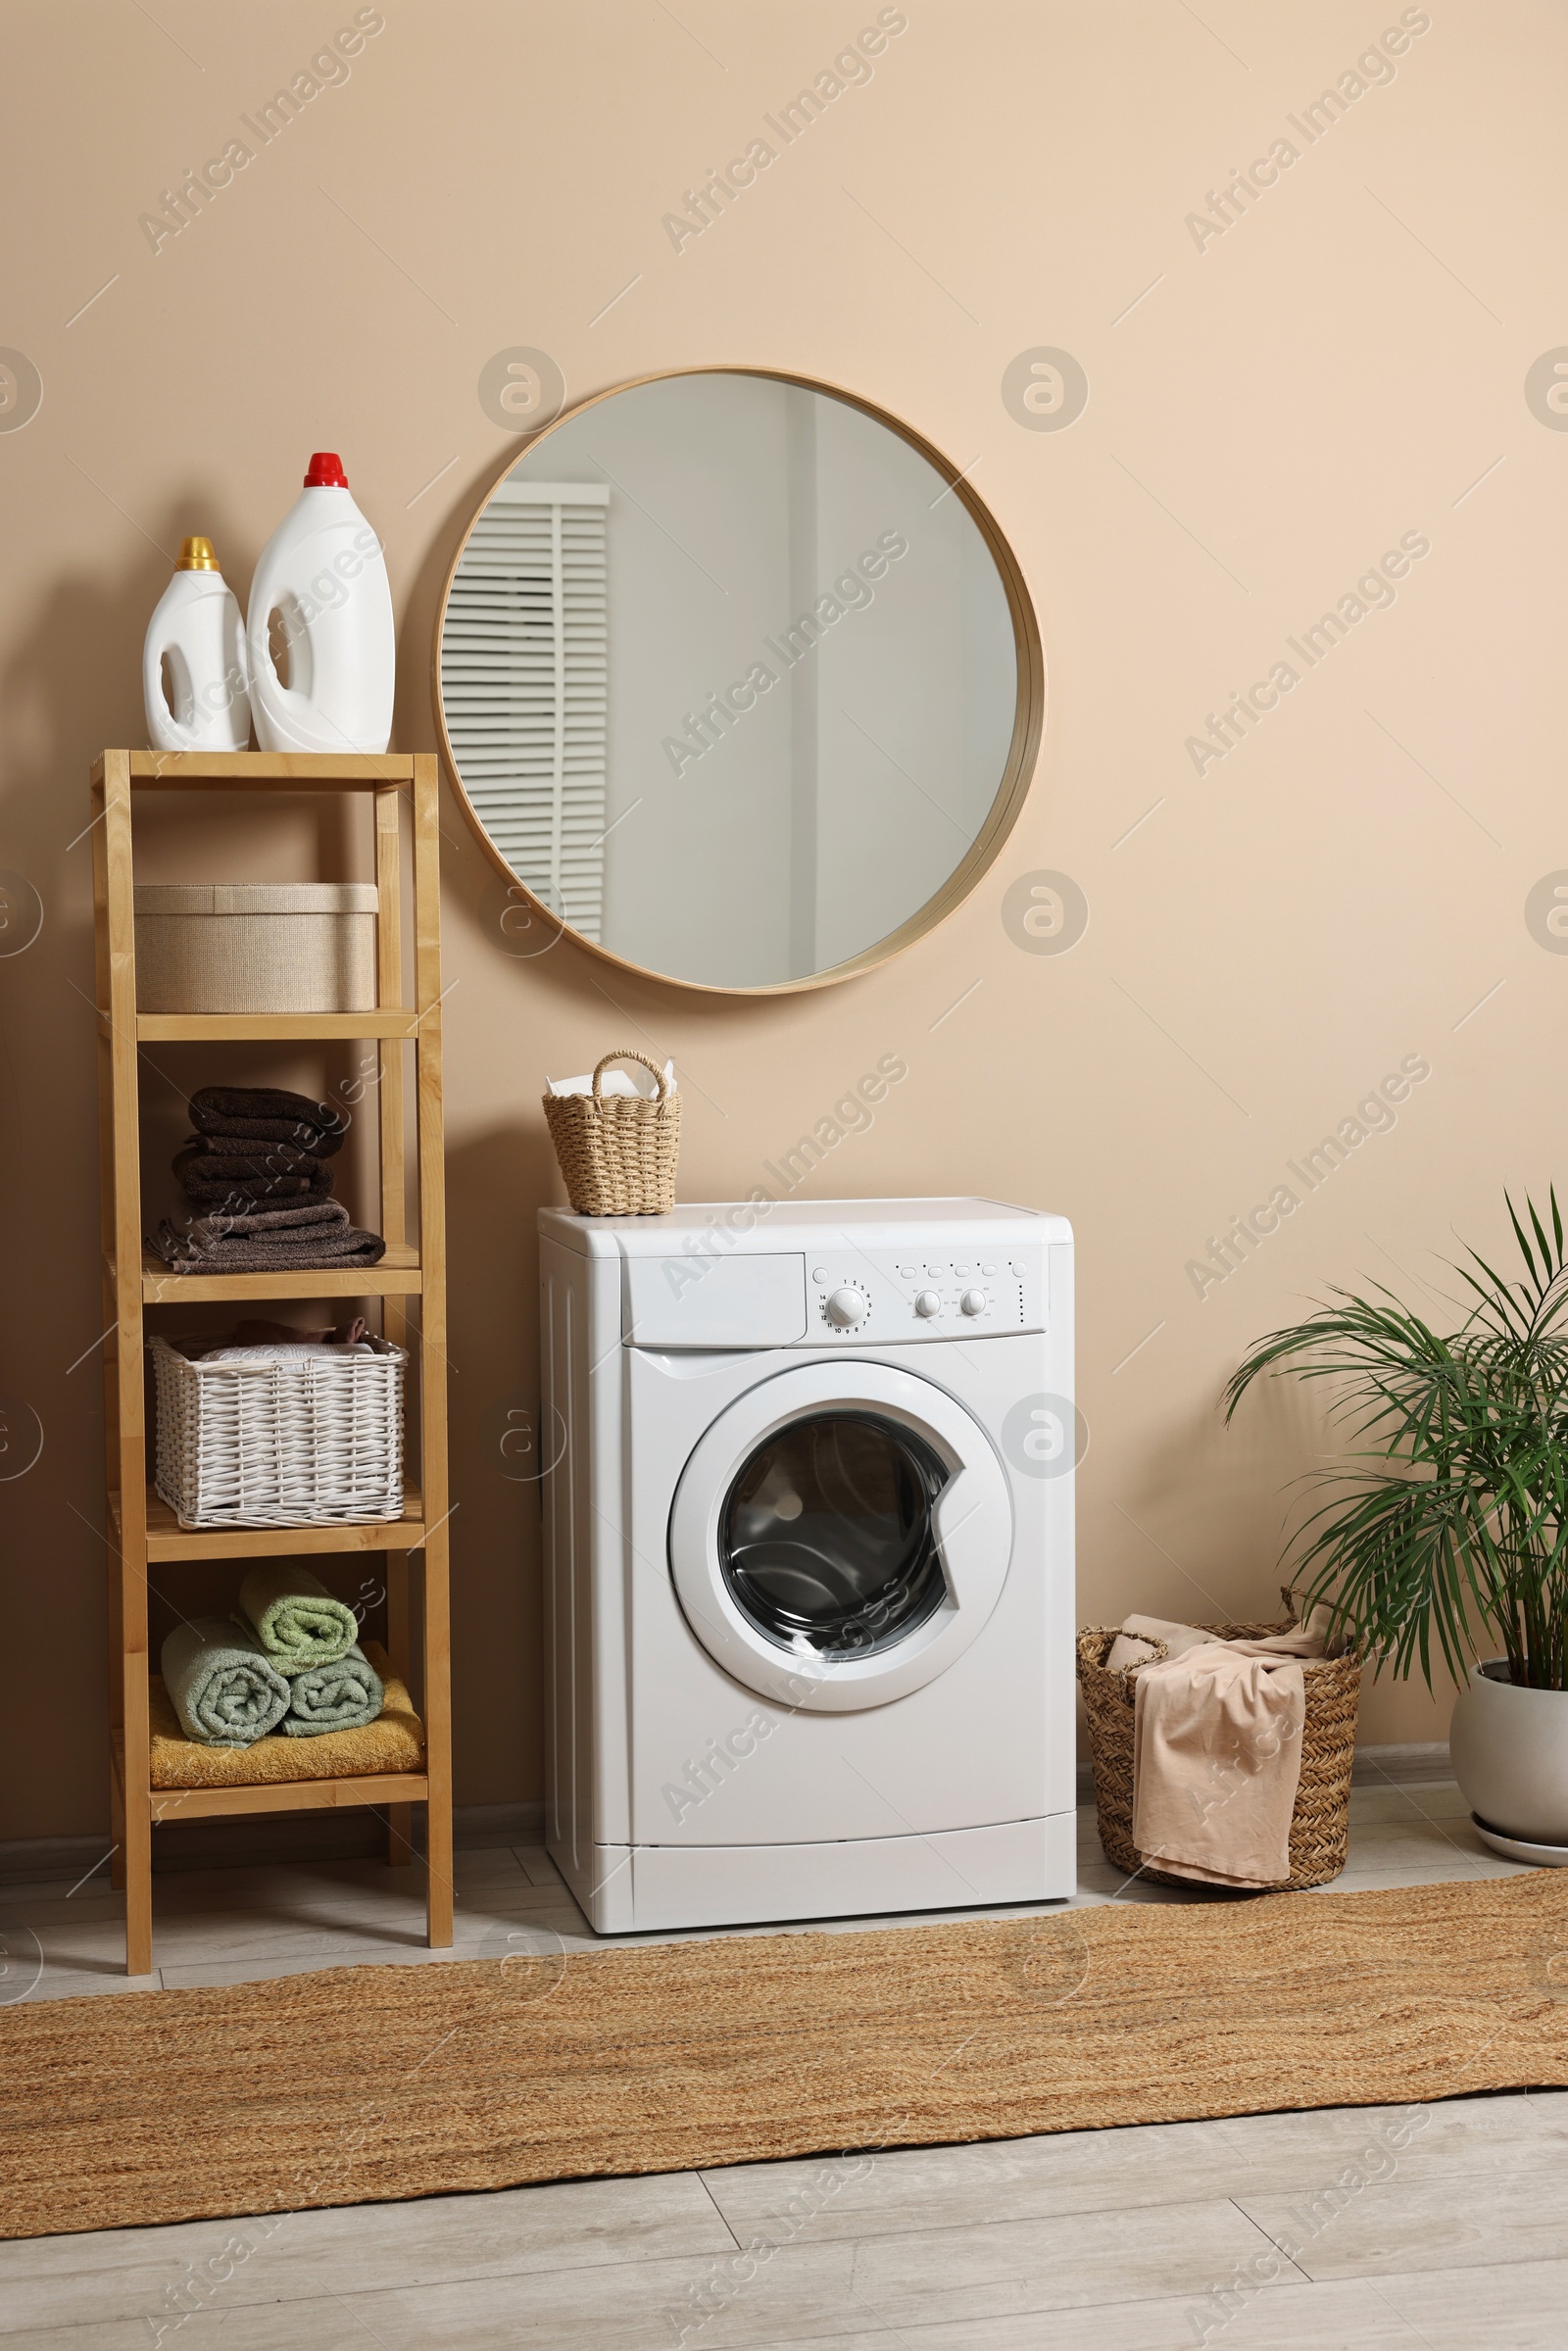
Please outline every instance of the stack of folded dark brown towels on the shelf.
M376 1265L386 1241L360 1232L331 1197L331 1157L348 1121L331 1103L280 1086L202 1086L195 1133L174 1173L195 1215L165 1223L150 1248L176 1274L261 1274L313 1265Z

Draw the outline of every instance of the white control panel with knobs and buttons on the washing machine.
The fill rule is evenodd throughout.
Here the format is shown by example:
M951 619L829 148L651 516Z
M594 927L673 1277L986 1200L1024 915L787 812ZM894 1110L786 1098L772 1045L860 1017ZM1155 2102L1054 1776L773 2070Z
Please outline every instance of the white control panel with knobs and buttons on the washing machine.
M954 1340L1046 1328L1046 1251L816 1255L811 1328L823 1340Z

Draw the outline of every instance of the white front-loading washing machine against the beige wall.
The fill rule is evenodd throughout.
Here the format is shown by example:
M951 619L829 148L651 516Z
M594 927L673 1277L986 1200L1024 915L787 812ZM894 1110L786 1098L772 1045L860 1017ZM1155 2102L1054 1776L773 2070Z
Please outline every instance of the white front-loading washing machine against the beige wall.
M545 1841L592 1925L1067 1897L1067 1223L538 1232Z

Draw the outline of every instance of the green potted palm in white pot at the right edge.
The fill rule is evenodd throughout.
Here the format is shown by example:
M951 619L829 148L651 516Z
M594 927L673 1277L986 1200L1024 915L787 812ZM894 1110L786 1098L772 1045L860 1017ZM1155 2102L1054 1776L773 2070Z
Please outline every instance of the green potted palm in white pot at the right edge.
M1354 1467L1298 1531L1305 1606L1401 1679L1432 1634L1460 1683L1453 1770L1483 1831L1568 1860L1568 1253L1507 1201L1523 1272L1469 1253L1474 1305L1448 1338L1392 1291L1333 1302L1258 1340L1227 1385L1229 1420L1262 1373L1333 1380ZM1556 1855L1540 1855L1556 1857Z

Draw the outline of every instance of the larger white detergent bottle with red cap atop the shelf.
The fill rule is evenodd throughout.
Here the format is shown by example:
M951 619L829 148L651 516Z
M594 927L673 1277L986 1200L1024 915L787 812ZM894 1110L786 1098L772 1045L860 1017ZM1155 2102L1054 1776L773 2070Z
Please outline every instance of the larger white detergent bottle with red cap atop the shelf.
M256 564L252 717L261 750L378 752L393 734L393 590L381 541L317 449Z

